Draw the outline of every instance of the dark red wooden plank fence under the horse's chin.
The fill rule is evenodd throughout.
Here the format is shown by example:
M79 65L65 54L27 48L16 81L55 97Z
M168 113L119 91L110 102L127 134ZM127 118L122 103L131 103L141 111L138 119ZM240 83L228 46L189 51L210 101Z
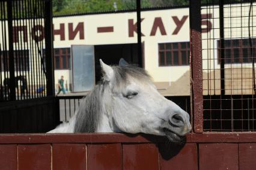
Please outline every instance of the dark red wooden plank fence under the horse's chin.
M255 133L192 133L183 145L118 133L0 136L1 169L254 169L255 154Z

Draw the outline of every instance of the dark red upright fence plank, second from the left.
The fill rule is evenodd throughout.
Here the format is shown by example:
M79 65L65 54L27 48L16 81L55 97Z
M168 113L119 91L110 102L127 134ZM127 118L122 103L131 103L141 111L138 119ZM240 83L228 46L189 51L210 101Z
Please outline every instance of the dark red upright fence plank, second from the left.
M18 145L19 170L51 169L50 144Z

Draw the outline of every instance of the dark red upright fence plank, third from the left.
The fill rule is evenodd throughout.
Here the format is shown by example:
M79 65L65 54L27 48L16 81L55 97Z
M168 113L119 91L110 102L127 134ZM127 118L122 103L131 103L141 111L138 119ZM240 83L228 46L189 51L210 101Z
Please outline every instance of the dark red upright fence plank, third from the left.
M87 169L85 144L53 144L53 169Z

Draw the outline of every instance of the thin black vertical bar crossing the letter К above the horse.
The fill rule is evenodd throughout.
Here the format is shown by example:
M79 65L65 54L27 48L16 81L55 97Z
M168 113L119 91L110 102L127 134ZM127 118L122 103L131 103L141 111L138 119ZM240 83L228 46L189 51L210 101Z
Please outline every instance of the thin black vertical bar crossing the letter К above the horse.
M138 64L142 65L142 50L141 50L141 0L136 0L137 13L137 44L138 44Z

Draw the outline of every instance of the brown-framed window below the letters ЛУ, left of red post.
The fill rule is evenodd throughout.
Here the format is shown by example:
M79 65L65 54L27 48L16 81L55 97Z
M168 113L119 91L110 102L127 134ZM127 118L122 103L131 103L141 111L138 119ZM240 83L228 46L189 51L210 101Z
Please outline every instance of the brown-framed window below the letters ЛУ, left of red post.
M189 65L189 42L159 43L159 66Z

